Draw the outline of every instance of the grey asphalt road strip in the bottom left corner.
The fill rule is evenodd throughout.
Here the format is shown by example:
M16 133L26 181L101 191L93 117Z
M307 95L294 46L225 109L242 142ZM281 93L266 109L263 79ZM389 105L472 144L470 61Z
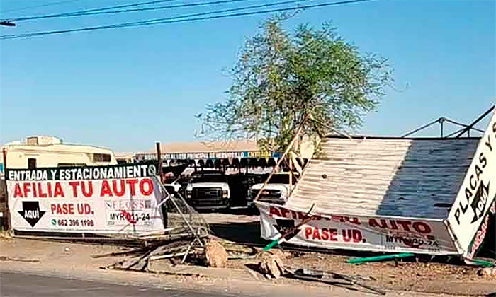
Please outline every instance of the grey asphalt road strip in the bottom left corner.
M109 284L99 281L84 281L66 279L58 276L41 276L35 274L21 274L16 272L1 272L0 296L2 297L30 297L30 296L160 296L160 297L216 297L218 294L201 291L186 291L177 289L159 289L125 284Z

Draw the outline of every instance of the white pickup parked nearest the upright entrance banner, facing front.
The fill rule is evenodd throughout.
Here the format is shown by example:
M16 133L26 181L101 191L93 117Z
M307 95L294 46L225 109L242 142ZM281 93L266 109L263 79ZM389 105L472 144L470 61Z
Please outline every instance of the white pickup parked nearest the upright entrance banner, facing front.
M186 201L195 209L227 209L230 194L227 176L218 170L192 173L186 186Z

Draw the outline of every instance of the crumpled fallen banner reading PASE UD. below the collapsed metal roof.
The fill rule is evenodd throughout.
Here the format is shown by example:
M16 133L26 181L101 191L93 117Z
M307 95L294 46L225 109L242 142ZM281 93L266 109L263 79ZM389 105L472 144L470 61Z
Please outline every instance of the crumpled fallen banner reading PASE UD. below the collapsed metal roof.
M274 240L293 231L288 243L317 248L415 252L430 255L458 254L441 220L385 216L320 216L295 230L305 213L256 202L260 210L261 237Z

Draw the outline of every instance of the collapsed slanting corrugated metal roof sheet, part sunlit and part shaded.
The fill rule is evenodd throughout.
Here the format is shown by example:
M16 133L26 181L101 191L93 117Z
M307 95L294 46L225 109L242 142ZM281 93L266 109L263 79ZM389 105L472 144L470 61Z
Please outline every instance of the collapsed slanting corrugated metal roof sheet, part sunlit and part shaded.
M444 219L478 139L327 137L288 206L322 214Z

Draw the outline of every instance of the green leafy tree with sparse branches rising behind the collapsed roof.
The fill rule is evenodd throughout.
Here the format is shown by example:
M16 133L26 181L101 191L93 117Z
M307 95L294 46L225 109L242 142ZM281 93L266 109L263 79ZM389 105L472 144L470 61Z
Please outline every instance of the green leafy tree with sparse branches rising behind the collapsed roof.
M329 23L288 33L281 22L266 21L247 40L230 71L227 100L198 116L203 135L257 139L267 150L283 150L299 127L312 139L354 131L377 107L392 80L386 59L359 52Z

